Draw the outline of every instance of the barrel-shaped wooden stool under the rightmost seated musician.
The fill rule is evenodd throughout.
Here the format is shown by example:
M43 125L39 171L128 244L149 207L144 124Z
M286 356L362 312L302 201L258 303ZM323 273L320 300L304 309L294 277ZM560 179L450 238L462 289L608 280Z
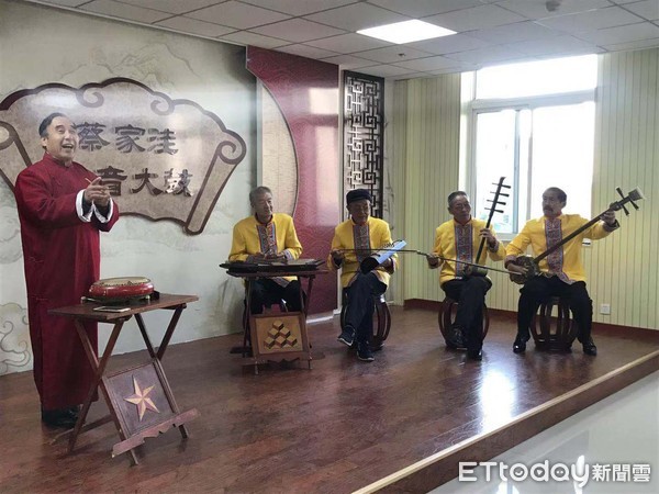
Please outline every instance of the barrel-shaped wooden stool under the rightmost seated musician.
M556 317L551 315L555 306ZM579 326L570 318L570 304L558 296L543 301L530 323L530 334L540 350L570 351L578 333Z

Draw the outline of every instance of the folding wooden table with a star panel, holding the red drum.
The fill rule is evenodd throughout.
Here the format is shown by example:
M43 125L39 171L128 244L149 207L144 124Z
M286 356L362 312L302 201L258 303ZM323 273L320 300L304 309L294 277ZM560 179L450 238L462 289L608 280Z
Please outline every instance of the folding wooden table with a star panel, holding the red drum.
M172 295L160 293L159 299L126 304L127 311L124 312L99 312L94 311L102 304L82 303L68 307L53 308L49 314L74 318L78 336L94 371L94 380L87 398L82 404L82 409L72 430L65 433L57 439L68 437L68 451L71 452L76 446L76 440L81 433L99 427L109 422L114 422L114 426L119 431L121 441L112 448L112 458L118 454L129 452L131 454L131 463L137 464L137 457L133 448L144 444L147 437L156 437L160 433L165 433L171 427L178 427L181 436L188 438L186 429L187 422L199 416L197 408L187 412L180 412L174 394L163 370L160 360L165 355L165 350L169 345L174 329L178 324L183 308L189 302L199 300L196 295ZM123 307L122 307L123 308ZM169 326L163 336L163 341L156 350L150 343L146 326L142 318L142 313L155 311L157 308L166 308L174 311ZM112 374L105 375L105 368L116 339L126 321L135 316L137 326L146 349L150 356L150 360L131 369L125 369ZM96 321L99 323L114 324L108 345L101 359L99 360L96 350L89 340L87 332L82 325L83 322ZM85 424L91 402L97 394L98 386L101 388L110 415L100 418L93 423Z

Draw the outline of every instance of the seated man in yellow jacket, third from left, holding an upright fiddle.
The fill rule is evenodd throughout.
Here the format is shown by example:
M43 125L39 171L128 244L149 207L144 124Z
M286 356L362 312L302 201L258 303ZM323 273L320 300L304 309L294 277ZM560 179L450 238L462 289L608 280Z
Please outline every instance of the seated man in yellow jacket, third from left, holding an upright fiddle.
M431 268L442 266L442 290L459 302L455 323L448 328L446 345L451 348L467 347L470 359L482 360L483 304L492 281L488 277L468 276L465 272L466 265L456 266L455 262L443 261L443 258L483 265L488 252L492 260L503 260L505 249L494 233L485 228L485 222L471 217L471 204L466 192L458 190L448 195L448 212L453 220L437 227L435 248L428 256ZM481 238L487 240L487 246L476 259Z

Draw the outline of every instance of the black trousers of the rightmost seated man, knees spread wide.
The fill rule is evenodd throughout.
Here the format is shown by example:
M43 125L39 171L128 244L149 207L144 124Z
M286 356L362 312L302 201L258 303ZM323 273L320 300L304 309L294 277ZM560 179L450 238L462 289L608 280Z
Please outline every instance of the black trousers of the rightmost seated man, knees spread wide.
M517 306L517 336L528 340L530 322L540 303L550 296L561 296L569 301L572 317L579 326L578 339L588 341L593 325L593 301L588 294L585 282L568 284L558 277L534 277L520 290Z

